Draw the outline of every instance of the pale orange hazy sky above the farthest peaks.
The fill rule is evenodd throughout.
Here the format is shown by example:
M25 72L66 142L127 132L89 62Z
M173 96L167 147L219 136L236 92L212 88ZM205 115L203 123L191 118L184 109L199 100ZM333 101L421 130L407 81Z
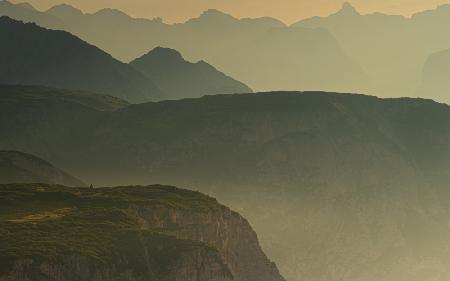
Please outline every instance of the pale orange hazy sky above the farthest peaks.
M23 2L26 0L14 0ZM328 15L338 10L343 0L29 0L38 9L67 3L84 11L101 8L120 9L135 17L162 17L166 22L181 22L215 8L236 17L271 16L286 23L314 15ZM351 0L360 12L411 14L450 3L450 0Z

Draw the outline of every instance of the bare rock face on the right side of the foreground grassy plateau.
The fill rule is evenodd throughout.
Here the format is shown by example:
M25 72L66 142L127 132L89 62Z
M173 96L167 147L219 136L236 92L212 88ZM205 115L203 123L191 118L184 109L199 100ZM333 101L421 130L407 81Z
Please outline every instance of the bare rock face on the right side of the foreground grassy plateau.
M144 229L165 229L177 238L202 241L216 247L235 280L282 280L275 264L261 250L248 222L231 210L192 213L166 206L133 208Z

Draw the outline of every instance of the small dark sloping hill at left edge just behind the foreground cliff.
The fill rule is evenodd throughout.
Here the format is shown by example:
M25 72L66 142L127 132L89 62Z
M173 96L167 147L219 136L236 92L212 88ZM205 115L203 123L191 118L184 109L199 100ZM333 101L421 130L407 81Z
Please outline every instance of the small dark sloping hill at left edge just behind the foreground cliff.
M19 151L0 151L0 184L19 182L86 185L36 156Z

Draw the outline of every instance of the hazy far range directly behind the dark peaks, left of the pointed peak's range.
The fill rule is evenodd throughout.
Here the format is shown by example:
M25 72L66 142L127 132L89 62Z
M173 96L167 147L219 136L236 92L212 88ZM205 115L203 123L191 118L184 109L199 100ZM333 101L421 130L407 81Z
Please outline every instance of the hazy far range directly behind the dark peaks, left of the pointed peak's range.
M183 24L134 19L112 9L82 13L68 5L46 14L114 57L129 61L158 46L207 61L257 90L361 92L370 81L324 30L289 28L272 18L236 19L208 10Z

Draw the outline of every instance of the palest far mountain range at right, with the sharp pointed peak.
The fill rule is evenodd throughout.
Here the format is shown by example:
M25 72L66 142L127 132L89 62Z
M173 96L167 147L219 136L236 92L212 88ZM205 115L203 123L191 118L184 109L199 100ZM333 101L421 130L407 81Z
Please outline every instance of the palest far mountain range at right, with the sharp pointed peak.
M449 24L450 5L406 18L362 15L346 3L333 15L302 20L293 26L329 30L369 75L373 93L392 97L415 94L427 57L450 48L445 35ZM432 97L441 98L442 94Z

